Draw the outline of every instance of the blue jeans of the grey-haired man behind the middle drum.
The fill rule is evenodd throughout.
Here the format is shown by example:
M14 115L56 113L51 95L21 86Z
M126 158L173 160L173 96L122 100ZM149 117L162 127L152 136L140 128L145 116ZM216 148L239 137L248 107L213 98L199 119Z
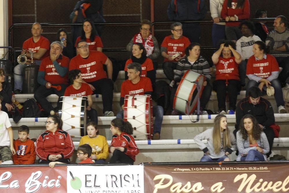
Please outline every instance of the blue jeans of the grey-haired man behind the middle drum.
M153 134L161 133L162 120L164 115L164 109L162 106L153 106L153 116L155 117L155 124L153 125ZM123 110L116 114L116 118L123 119Z

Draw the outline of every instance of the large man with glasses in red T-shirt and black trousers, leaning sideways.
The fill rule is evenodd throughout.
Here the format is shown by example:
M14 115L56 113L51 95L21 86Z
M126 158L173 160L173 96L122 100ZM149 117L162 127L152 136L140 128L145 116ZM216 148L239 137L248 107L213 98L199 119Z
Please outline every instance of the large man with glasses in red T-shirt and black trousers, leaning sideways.
M112 112L112 62L102 52L89 51L84 40L80 40L76 48L79 54L71 59L69 70L81 71L82 82L87 83L94 94L102 95L104 116L114 116ZM103 65L107 67L107 74L103 70Z

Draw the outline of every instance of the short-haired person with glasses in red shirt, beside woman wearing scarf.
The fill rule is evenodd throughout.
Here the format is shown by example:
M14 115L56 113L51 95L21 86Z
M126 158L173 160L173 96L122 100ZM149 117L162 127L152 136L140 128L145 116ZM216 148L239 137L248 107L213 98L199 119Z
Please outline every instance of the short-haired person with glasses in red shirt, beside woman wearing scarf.
M182 24L175 22L171 25L171 35L166 36L161 45L161 54L164 57L163 70L171 82L174 84L174 70L179 60L184 58L185 49L190 45L190 40L183 36ZM175 54L178 54L176 56Z

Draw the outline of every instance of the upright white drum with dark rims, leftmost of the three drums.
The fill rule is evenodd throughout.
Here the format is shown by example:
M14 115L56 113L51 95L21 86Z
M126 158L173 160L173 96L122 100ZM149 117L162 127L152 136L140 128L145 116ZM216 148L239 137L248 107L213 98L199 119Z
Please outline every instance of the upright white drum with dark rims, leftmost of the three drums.
M65 130L71 137L84 136L86 127L86 97L61 97L60 104L62 110L59 110L62 130Z

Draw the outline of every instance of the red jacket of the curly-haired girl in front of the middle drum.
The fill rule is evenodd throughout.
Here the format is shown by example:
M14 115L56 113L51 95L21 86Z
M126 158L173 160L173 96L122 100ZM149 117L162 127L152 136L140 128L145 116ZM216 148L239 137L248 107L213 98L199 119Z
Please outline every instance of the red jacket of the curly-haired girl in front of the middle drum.
M125 132L122 132L121 135L113 135L110 146L124 147L125 154L128 155L134 161L136 161L136 155L138 155L139 150L138 147L136 146L134 138L131 135Z

